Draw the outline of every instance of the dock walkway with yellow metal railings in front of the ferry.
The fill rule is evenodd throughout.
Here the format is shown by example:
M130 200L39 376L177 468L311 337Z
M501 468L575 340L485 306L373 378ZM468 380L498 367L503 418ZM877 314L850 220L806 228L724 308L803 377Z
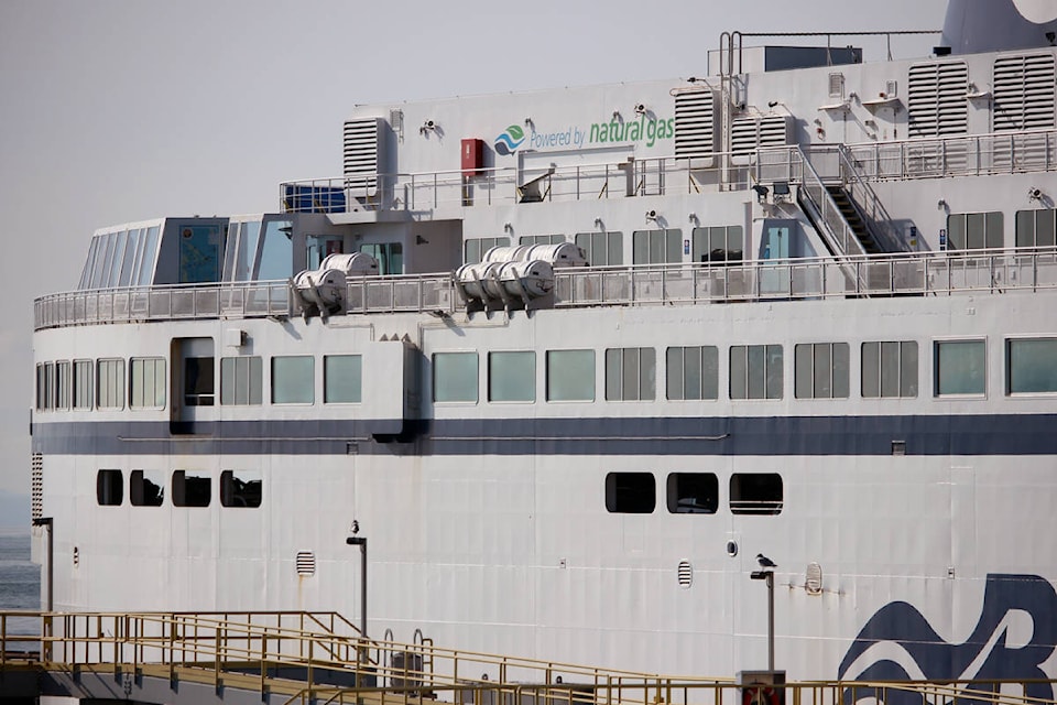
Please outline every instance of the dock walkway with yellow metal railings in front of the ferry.
M39 633L30 633L26 622ZM31 622L31 623L32 623ZM19 623L21 629L9 629ZM1032 687L1032 683L1035 687ZM859 701L1002 705L1057 681L789 683L792 705ZM0 612L0 701L138 703L735 705L771 702L730 679L577 666L363 638L334 612Z

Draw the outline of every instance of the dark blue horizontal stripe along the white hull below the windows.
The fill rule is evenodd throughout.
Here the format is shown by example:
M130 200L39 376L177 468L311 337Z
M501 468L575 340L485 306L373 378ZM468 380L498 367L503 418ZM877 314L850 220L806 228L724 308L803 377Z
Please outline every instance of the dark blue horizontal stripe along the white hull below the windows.
M222 421L173 434L164 422L33 427L35 453L67 455L1057 455L1057 414L739 416L418 421L401 437L378 422ZM389 424L392 427L393 424Z

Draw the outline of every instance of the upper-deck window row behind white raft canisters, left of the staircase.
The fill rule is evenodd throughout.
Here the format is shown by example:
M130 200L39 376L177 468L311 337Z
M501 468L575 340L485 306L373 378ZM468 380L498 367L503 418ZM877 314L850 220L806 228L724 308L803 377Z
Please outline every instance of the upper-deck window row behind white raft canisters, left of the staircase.
M530 235L519 245L557 245L566 241L564 235ZM620 231L578 232L574 241L584 250L592 267L614 267L624 263L624 234ZM493 247L509 247L508 237L470 238L464 242L464 259L468 264L480 262ZM740 225L694 228L690 239L683 239L678 228L635 230L632 232L633 264L673 264L690 254L694 262L740 262L744 258L744 228Z

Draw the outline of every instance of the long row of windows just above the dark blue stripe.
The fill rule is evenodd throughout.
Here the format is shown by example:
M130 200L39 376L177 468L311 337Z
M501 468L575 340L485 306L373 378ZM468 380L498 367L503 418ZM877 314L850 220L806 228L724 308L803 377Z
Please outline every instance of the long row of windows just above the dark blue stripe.
M859 394L864 399L916 398L919 350L916 340L863 343L859 348ZM782 399L785 351L781 345L733 345L728 349L728 398ZM934 344L933 394L987 393L987 341L938 340ZM315 403L315 365L310 355L271 358L271 403ZM488 401L536 401L536 352L505 350L487 355ZM213 405L213 358L185 360L188 405ZM36 368L36 408L162 409L167 388L164 358L132 358L129 375L123 359L59 360ZM548 402L595 401L596 351L547 350L545 389ZM610 348L604 356L607 401L653 401L657 398L657 351L654 348ZM665 349L665 398L669 401L719 399L719 348L685 346ZM97 379L92 384L92 370ZM261 357L220 359L220 403L259 405L263 400ZM208 370L206 372L205 370ZM1057 392L1057 338L1005 340L1006 394ZM805 343L794 346L796 399L848 399L851 395L851 346L848 343ZM192 376L195 379L189 379ZM128 395L126 395L128 380ZM323 357L324 403L362 401L362 357ZM433 400L480 400L480 355L435 352Z

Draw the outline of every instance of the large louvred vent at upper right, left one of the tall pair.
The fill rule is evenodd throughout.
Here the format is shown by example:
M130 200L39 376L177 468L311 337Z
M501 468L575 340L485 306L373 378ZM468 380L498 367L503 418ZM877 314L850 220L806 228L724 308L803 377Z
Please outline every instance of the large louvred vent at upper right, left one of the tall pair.
M969 67L961 63L911 66L907 117L911 137L965 134Z

